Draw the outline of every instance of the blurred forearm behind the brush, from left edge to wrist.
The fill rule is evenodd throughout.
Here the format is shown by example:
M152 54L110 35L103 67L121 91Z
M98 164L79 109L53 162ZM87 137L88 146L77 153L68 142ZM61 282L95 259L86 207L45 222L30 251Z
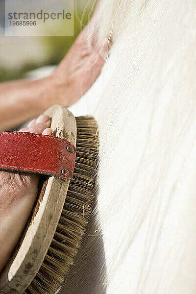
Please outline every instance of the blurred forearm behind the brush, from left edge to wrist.
M0 83L0 131L39 115L52 105L48 78Z

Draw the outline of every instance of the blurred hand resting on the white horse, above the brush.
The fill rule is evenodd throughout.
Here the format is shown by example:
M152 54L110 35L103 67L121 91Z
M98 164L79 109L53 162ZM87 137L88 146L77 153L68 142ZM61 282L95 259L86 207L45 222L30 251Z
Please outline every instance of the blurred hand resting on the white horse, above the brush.
M53 104L59 103L66 107L72 105L88 91L101 72L108 55L110 42L108 39L98 42L97 30L94 30L88 39L90 27L96 24L97 13L98 8L50 76Z

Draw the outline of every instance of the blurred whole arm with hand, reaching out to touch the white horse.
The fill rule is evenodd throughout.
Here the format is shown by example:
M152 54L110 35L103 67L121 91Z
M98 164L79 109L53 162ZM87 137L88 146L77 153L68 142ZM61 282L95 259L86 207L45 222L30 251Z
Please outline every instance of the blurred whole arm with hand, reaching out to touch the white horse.
M89 46L87 31L81 31L49 77L0 83L0 131L41 114L53 104L71 106L89 90L105 63L109 41L97 44L94 35Z

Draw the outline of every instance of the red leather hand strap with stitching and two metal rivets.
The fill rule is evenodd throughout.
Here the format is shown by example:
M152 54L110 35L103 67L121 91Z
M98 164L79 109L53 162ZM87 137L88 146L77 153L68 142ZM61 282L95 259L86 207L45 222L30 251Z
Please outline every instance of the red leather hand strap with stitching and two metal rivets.
M76 149L61 138L27 132L0 133L0 170L71 179Z

